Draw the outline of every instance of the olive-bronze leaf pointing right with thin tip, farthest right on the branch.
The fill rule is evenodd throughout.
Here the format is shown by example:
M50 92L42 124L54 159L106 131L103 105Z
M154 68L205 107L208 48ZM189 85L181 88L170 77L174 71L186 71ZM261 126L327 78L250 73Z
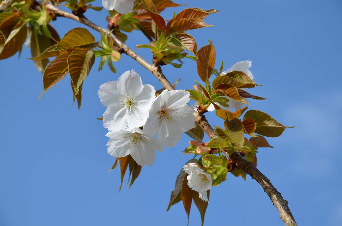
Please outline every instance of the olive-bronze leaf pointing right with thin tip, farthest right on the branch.
M284 132L285 128L293 128L278 123L268 114L258 110L249 110L246 112L244 120L247 118L251 118L257 123L254 132L266 137L279 137L281 133Z

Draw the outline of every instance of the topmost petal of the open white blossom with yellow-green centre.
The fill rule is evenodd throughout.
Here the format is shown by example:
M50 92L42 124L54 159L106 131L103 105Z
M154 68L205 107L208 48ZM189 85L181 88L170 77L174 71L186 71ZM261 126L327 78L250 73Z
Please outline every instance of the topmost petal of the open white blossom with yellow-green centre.
M137 97L143 89L141 77L134 70L124 72L118 79L118 90L129 97Z

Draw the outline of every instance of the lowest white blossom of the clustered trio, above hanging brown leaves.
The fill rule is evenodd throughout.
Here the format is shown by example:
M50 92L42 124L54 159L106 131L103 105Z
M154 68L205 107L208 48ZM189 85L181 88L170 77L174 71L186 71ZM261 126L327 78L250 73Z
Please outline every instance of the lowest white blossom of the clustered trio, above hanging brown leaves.
M109 131L106 136L110 138L107 143L109 155L118 158L131 155L140 166L153 164L156 158L155 149L164 151L163 146L156 139L144 134L139 128Z

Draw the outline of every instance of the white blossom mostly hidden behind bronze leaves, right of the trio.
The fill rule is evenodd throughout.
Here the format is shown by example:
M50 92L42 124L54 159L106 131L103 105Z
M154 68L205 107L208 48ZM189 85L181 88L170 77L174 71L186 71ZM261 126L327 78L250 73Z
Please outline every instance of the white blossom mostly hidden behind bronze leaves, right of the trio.
M227 74L229 72L232 72L232 71L242 71L245 74L247 74L247 76L250 79L253 79L254 76L253 76L252 72L249 70L249 68L251 66L252 66L252 61L251 60L242 60L242 61L239 61L239 62L235 63L228 70L222 72L221 75L225 75L225 74ZM228 99L229 99L229 102L227 104L229 105L229 108L231 108L231 109L240 110L242 108L242 106L244 105L244 103L242 103L240 101L233 100L233 99L231 99L229 97L228 97ZM219 103L216 103L216 104L219 105L221 107L221 109L229 111L229 108L223 107ZM214 111L215 110L214 105L210 104L210 106L209 106L209 108L207 110L208 111Z

